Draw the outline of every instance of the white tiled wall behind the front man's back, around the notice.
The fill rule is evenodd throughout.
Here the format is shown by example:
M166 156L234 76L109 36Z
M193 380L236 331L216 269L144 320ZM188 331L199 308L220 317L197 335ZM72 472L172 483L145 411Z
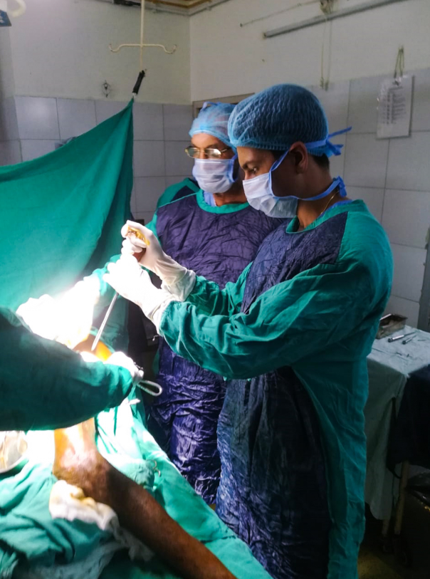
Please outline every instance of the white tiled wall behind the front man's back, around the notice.
M352 199L364 199L384 226L394 255L394 282L387 311L419 317L430 227L430 70L414 74L411 136L377 140L377 97L383 77L312 87L327 113L330 132L352 125L341 157L332 157ZM343 140L342 140L343 139Z

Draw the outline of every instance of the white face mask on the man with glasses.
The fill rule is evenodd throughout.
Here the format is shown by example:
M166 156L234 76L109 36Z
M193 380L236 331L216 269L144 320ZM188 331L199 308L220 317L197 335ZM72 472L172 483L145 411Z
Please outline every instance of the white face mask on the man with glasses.
M199 187L208 193L225 193L234 184L234 163L232 159L194 159L193 177Z

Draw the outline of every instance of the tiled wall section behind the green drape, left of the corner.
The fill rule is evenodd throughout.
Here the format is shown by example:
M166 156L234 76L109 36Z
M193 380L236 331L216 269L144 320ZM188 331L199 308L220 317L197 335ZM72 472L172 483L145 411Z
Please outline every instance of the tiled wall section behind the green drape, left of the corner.
M126 102L15 97L0 102L0 165L30 161L55 150L56 142L77 137L119 113ZM192 106L135 103L133 106L135 184L130 208L150 221L157 199L170 184L191 174L189 145Z

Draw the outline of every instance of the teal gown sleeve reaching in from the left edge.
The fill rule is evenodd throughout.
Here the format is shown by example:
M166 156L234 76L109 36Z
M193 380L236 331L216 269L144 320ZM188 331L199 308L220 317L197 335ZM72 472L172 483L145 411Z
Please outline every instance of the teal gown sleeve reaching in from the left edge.
M84 362L7 308L0 308L0 336L0 430L72 426L120 405L132 390L125 368Z

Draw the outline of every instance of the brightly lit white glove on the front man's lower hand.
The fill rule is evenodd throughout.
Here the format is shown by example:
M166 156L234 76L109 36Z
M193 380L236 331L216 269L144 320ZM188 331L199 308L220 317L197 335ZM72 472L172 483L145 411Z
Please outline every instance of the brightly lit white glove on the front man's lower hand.
M115 264L108 265L103 280L112 286L120 296L140 307L159 330L164 310L172 301L179 301L166 288L152 285L150 275L137 263L134 257L121 256Z

